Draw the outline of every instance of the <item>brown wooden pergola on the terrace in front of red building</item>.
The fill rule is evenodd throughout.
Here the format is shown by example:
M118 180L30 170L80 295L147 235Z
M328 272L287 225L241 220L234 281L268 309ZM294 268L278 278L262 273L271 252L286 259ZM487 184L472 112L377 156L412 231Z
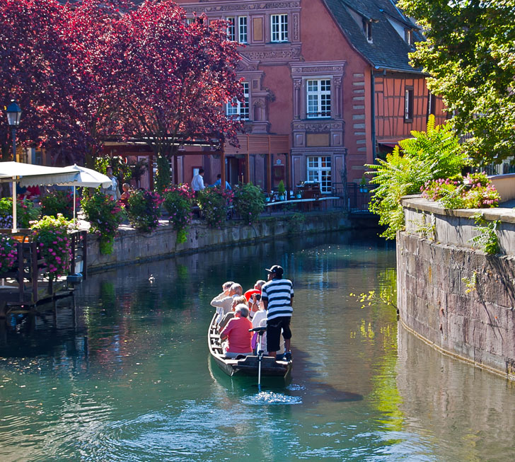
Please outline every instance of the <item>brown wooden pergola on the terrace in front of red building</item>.
M250 181L250 156L264 155L267 157L267 178L266 187L272 189L272 156L284 154L286 156L286 188L291 186L291 168L289 160L289 135L279 134L238 134L239 146L222 144L218 139L211 142L204 140L184 140L179 143L178 152L173 156L173 181L178 183L178 158L181 156L220 156L221 162L221 184L225 185L225 159L227 156L245 156L245 168L243 182ZM154 161L154 153L149 149L148 144L141 140L129 140L129 142L105 142L105 151L110 155L149 155L149 163Z

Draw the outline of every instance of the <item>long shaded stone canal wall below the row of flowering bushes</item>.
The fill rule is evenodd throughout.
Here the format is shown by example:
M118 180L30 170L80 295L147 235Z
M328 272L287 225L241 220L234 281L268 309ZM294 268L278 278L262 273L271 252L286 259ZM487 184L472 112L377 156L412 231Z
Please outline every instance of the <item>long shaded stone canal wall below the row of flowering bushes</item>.
M254 225L241 222L228 222L221 229L210 229L199 221L194 222L185 243L175 242L176 232L166 221L151 234L142 234L128 226L122 226L115 238L114 249L110 255L101 255L98 239L88 236L88 271L96 272L142 262L156 258L168 258L180 253L193 253L207 248L233 246L287 236L294 233L320 233L352 228L347 214L342 212L325 212L311 214L294 214L290 216L265 218Z

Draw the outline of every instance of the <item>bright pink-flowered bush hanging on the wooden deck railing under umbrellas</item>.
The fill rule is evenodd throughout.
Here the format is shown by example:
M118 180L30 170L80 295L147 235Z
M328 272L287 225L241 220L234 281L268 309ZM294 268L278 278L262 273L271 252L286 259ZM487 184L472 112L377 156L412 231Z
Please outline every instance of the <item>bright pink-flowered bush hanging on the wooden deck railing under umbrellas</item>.
M30 226L38 243L40 258L45 259L45 275L52 281L69 272L71 260L71 239L68 230L73 222L66 220L62 214L43 216L40 221Z

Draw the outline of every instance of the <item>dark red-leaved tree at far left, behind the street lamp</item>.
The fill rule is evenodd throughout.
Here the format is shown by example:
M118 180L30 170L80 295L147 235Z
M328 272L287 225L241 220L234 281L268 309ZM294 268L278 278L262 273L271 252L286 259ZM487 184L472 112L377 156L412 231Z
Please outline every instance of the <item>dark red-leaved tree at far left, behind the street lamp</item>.
M54 0L0 0L0 102L11 99L23 113L17 131L22 146L41 146L63 161L81 156L88 134L77 123L76 76L71 43L61 31L66 6ZM2 160L11 155L5 112L0 120Z

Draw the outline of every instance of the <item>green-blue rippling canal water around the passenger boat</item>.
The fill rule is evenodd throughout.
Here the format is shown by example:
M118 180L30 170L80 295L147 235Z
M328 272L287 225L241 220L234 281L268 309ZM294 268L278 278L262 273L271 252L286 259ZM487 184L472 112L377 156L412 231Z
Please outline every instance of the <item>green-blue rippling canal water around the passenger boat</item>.
M277 263L295 285L294 369L258 393L209 358L209 301ZM513 461L514 383L349 295L394 286L395 248L364 233L91 275L55 311L1 324L0 460Z

